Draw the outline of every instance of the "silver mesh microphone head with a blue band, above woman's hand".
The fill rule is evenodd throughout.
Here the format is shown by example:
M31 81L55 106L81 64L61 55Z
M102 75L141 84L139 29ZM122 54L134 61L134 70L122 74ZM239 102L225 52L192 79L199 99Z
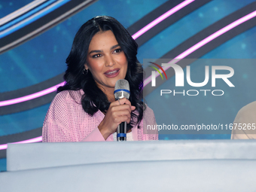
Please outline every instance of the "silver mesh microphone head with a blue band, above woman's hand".
M125 79L117 80L114 86L114 98L122 99L125 97L126 99L129 99L130 97L130 86L129 82Z

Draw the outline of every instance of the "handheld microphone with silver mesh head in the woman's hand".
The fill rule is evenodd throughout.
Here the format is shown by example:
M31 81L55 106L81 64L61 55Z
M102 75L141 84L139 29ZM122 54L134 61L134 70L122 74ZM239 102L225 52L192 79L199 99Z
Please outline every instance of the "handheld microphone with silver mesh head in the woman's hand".
M125 97L129 99L130 97L130 86L129 82L125 79L117 80L114 86L114 98L116 100ZM117 142L126 141L126 122L120 123L117 127Z

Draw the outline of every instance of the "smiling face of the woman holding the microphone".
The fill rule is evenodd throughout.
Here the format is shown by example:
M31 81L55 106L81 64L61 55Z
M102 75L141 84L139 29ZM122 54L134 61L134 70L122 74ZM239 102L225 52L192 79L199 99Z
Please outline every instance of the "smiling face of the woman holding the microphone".
M125 78L128 62L111 30L93 36L84 66L103 90L113 91L117 80Z

